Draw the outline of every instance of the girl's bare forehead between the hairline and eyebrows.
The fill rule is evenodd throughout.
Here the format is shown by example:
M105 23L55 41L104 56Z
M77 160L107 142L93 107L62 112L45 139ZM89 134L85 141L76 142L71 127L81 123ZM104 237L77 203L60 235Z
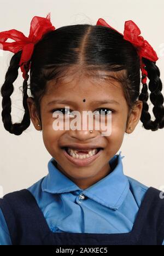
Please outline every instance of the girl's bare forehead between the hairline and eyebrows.
M96 75L72 74L66 75L60 80L51 80L46 84L45 100L51 98L75 98L86 97L89 100L97 98L123 97L124 91L120 82L107 76L107 73L97 71Z

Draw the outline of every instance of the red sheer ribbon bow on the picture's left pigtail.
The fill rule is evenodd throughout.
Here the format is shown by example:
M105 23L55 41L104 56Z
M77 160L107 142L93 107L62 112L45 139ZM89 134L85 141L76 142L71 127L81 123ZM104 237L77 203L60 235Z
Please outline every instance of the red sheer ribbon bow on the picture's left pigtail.
M9 30L0 32L0 49L17 53L22 50L20 59L20 68L24 79L28 79L28 71L30 70L30 59L33 53L34 44L36 44L45 33L55 30L50 22L50 13L46 18L34 16L31 21L30 34L26 37L22 32L17 30ZM5 42L8 38L16 42Z

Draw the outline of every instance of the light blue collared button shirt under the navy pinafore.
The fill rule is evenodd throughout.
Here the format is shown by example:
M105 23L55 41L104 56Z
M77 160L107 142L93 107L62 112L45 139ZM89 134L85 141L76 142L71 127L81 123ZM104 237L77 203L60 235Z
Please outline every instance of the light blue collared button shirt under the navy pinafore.
M54 158L50 159L48 175L28 190L52 232L114 234L132 230L148 187L125 176L122 158L121 152L115 155L109 161L113 171L85 190L58 170ZM93 219L96 225L92 224ZM1 209L0 245L11 245Z

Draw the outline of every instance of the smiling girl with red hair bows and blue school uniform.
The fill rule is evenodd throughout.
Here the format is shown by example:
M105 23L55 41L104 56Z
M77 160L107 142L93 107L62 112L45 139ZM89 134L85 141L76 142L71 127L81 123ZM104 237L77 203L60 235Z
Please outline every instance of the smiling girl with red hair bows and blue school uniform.
M125 22L123 35L103 19L55 30L50 14L34 16L28 38L16 30L0 33L2 49L15 53L1 88L4 128L21 135L32 121L52 156L46 177L0 200L1 245L164 244L161 191L125 176L124 156L116 154L139 120L147 130L164 127L158 58L139 34L133 21ZM19 67L25 114L13 124L10 96ZM101 129L53 129L52 114L67 124L74 110L98 113L104 123L112 115L110 136Z

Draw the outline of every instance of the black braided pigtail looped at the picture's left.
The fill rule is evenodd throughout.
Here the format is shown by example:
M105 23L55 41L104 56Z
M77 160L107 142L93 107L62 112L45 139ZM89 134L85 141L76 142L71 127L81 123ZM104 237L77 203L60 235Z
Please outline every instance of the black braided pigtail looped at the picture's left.
M13 83L17 78L19 62L22 51L19 51L10 60L10 66L7 73L5 74L5 82L1 88L2 99L2 121L5 130L15 135L21 135L21 133L30 126L30 113L27 106L27 80L23 83L23 106L25 109L24 118L21 123L13 124L11 121L11 99L10 96L13 94L14 86Z

